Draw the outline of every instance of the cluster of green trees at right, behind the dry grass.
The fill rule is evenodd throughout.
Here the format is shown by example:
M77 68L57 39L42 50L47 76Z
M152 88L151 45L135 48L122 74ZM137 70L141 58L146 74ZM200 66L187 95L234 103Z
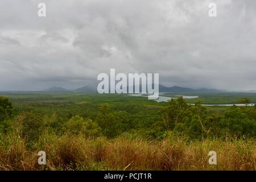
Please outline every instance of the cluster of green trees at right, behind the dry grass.
M233 106L224 114L207 110L200 103L187 105L182 97L162 109L163 128L193 139L228 135L256 136L256 107Z

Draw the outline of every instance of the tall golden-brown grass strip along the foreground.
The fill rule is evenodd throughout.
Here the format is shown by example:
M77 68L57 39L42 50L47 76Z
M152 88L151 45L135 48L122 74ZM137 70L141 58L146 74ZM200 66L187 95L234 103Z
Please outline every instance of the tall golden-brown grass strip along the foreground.
M47 154L45 166L38 164L40 150ZM208 163L212 150L217 165ZM26 143L16 132L0 137L1 170L256 170L255 159L253 139L110 140L46 133L36 143Z

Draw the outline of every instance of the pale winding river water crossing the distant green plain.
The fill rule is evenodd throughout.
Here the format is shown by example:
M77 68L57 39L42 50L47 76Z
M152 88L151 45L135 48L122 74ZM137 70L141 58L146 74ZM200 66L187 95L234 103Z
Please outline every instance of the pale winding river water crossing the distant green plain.
M163 94L163 93L161 93ZM134 97L147 97L147 96L143 96L143 94L139 93L139 94L129 94L129 96L134 96ZM177 96L177 97L181 97L181 96ZM198 96L182 96L183 98L198 98ZM166 97L166 96L159 96L158 100L154 100L156 102L168 102L170 101L172 98L176 99L176 97ZM195 104L191 104L191 105L195 105ZM202 106L254 106L254 104L201 104Z

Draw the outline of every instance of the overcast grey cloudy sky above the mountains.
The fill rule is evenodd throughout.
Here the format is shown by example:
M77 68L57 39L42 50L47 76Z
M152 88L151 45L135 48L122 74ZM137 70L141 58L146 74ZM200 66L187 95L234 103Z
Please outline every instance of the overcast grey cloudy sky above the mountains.
M256 90L256 1L0 1L0 90L75 89L110 68L159 73L165 86Z

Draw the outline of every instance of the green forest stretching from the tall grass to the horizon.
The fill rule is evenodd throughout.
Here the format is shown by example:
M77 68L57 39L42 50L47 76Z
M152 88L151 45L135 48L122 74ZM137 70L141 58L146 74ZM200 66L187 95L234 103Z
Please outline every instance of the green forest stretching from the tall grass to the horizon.
M10 118L10 101L1 97L1 103L5 103L1 106L7 114L3 114L5 119L0 122L0 131L18 130L20 137L32 142L46 130L58 136L82 134L108 138L133 135L163 139L170 131L198 140L226 135L256 136L256 106L218 109L202 106L199 100L189 105L182 97L158 104L125 94L24 93L9 96L14 103L14 117Z

